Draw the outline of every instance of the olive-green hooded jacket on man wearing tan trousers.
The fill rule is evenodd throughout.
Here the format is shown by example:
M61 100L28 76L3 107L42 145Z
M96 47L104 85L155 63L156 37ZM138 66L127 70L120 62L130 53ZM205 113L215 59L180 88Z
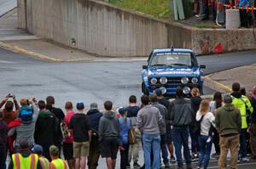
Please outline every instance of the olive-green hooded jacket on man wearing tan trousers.
M225 104L217 110L215 124L220 136L239 134L241 129L241 115L233 104Z

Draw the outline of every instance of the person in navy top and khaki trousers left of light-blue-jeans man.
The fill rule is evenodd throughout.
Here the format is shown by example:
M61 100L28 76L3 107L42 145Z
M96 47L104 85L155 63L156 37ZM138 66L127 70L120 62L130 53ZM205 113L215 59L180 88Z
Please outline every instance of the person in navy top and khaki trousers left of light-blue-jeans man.
M129 153L128 153L128 164L131 163L131 157L133 159L133 166L139 167L138 158L139 158L139 145L141 134L137 129L137 112L140 110L140 107L137 105L137 98L134 95L129 97L129 106L125 108L127 111L127 117L131 119L131 129L133 128L136 132L136 143L129 145Z

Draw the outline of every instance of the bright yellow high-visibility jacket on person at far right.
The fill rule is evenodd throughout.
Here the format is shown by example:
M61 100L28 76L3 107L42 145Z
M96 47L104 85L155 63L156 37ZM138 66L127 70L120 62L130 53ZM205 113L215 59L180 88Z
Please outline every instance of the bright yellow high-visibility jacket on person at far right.
M233 101L232 104L236 107L236 109L240 110L241 114L241 128L247 128L247 108L253 113L253 106L249 99L246 96L241 95L241 98L232 97Z

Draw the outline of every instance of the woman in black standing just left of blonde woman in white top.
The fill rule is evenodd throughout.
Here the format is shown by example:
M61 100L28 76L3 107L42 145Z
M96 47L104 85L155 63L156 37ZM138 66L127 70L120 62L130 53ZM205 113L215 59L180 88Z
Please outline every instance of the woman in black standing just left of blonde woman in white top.
M197 87L193 87L191 90L192 97L190 98L191 107L193 110L193 117L192 123L189 125L189 133L191 138L191 149L192 149L192 161L198 159L199 155L198 152L200 151L200 147L198 144L198 133L195 132L195 115L196 112L199 110L201 104L201 97L199 93L199 89Z

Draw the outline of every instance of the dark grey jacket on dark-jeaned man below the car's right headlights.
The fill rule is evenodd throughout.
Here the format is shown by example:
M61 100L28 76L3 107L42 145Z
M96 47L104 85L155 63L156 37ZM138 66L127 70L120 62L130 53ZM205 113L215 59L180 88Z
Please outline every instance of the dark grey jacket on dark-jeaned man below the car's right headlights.
M183 127L191 124L193 110L189 99L178 98L173 100L168 111L173 127Z

